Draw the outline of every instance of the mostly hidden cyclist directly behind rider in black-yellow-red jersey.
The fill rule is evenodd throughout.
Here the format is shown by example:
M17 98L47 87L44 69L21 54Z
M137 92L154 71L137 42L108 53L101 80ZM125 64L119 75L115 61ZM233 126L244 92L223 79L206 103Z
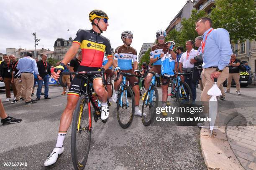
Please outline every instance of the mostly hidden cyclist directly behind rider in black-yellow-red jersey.
M108 62L108 57L104 55L102 60L102 65L106 65ZM107 82L107 91L108 91L108 102L111 102L111 95L112 95L112 87L111 87L111 77L113 76L113 70L112 65L108 67L108 69L105 71L106 74L106 82Z

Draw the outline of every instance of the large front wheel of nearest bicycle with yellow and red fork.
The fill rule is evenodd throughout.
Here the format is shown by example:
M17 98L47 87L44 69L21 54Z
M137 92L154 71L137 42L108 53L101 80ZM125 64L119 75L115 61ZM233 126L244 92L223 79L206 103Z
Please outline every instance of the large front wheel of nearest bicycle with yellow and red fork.
M74 111L71 133L71 155L74 169L84 169L91 143L91 107L86 95L82 95Z

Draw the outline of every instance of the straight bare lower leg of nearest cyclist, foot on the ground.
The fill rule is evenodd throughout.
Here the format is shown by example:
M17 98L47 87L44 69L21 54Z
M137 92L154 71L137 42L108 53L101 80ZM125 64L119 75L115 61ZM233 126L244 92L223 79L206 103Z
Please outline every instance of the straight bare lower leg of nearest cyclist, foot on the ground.
M61 115L61 121L59 125L60 132L66 132L69 129L69 126L72 121L72 115L73 115L74 109L76 108L78 100L79 100L79 96L68 95L67 106Z

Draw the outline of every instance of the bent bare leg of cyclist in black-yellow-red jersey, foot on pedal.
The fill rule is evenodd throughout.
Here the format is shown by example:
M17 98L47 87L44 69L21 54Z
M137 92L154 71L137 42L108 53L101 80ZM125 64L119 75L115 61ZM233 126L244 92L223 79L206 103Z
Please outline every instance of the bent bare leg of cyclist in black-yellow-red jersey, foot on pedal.
M99 100L101 102L107 102L108 92L105 90L102 84L102 79L94 79L92 84L93 84L93 89L95 90Z

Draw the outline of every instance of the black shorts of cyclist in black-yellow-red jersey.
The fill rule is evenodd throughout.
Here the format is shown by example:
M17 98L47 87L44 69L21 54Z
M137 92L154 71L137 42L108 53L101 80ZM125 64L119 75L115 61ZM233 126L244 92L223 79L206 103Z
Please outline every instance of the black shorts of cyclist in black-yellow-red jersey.
M77 71L98 71L99 67L87 67L80 65L77 69ZM95 79L102 79L101 74L95 74L88 76L90 81L93 81ZM68 95L81 95L81 90L83 90L85 84L85 79L81 77L80 75L76 75L74 79L71 82L71 85L69 87Z

